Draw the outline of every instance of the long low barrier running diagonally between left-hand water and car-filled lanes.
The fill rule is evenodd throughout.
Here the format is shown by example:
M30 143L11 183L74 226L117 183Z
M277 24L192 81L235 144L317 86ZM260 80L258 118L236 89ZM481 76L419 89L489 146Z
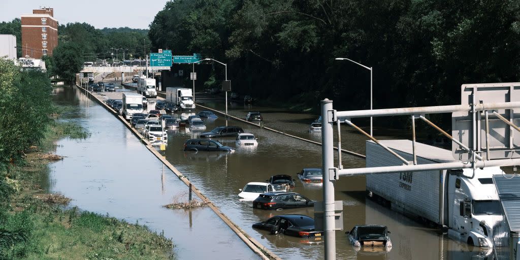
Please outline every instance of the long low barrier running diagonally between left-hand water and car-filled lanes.
M128 86L126 84L123 84L124 86ZM233 230L233 232L235 232L237 234L237 236L242 240L244 241L244 243L246 245L249 246L249 248L251 250L253 250L258 256L260 256L262 259L264 260L268 260L268 259L275 259L275 260L281 260L280 257L278 257L275 253L271 252L269 249L267 249L264 245L262 245L261 243L259 243L258 241L256 241L256 239L252 238L251 236L248 235L248 233L246 233L242 228L240 228L238 225L236 225L235 223L233 223L231 221L231 219L226 216L224 213L222 213L222 211L220 211L220 209L215 205L213 204L213 202L207 198L206 196L204 196L200 191L199 189L197 189L193 184L190 183L190 181L186 178L186 176L184 176L181 172L179 172L177 170L177 168L175 168L175 166L173 166L170 162L168 162L164 157L163 155L157 151L151 144L150 144L150 141L148 141L148 139L144 138L144 136L142 136L135 128L132 127L131 124L129 124L125 118L123 118L123 116L119 115L118 112L116 112L114 109L112 109L111 107L109 107L105 102L103 102L103 100L101 100L100 98L98 98L97 96L93 95L92 93L90 93L88 90L86 90L85 88L81 87L81 86L78 86L76 85L77 88L80 88L81 90L83 90L85 92L85 94L87 96L90 96L90 97L93 97L96 101L98 101L103 107L105 107L108 111L112 112L121 122L123 122L124 125L126 125L126 127L135 135L137 136L142 142L145 143L146 145L146 148L148 148L148 150L150 150L150 152L152 152L155 157L157 157L164 165L166 165L166 167L168 167L175 175L177 175L177 177L183 181L184 184L186 184L186 186L190 186L191 185L191 188L193 190L193 193L195 193L203 202L205 202L212 210L213 212L215 212L215 214L220 217L220 219L222 219L224 221L224 223L226 223L226 225L231 228L231 230ZM128 86L128 87L133 87L133 86Z

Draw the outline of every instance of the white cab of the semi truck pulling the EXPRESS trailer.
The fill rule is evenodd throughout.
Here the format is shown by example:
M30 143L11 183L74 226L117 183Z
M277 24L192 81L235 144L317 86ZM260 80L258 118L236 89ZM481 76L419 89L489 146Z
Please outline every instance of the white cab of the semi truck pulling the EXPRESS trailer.
M448 171L448 236L481 248L493 247L493 229L503 222L493 175L500 167Z

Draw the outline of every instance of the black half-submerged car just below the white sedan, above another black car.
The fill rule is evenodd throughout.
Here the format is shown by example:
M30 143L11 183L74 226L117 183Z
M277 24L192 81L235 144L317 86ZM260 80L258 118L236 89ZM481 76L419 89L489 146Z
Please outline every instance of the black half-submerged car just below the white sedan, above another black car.
M266 192L253 201L255 209L278 210L295 209L297 207L312 207L314 201L296 192Z

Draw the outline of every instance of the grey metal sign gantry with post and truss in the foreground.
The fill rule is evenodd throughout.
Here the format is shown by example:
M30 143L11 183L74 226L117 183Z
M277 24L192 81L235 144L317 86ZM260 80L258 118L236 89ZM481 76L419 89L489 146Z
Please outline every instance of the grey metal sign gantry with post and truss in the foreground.
M503 88L516 89L520 88L520 83L490 83L490 84L466 84L462 85L462 89L467 88L471 85L472 92L468 100L470 102L464 102L462 105L453 106L433 106L433 107L415 107L415 108L392 108L392 109L376 109L376 110L357 110L357 111L336 111L332 107L332 100L325 99L320 103L321 117L322 117L322 129L321 129L321 141L322 141L322 172L323 172L323 231L325 238L325 259L332 260L336 258L336 244L335 244L335 225L334 225L334 181L339 179L340 176L354 176L354 175L366 175L366 174L386 174L386 173L401 173L401 172L416 172L416 171L428 171L428 170L451 170L451 169L462 169L462 168L473 168L477 167L491 167L491 166L513 166L520 165L520 158L516 157L502 157L497 156L491 158L489 156L490 151L497 151L502 146L506 147L508 151L518 154L520 153L520 146L508 145L510 140L504 138L502 144L497 145L495 138L495 146L489 145L488 139L493 135L495 137L500 136L500 132L495 131L493 128L504 128L510 127L520 132L520 127L516 126L514 122L514 110L520 108L520 94L516 95L516 92L512 90L509 92L508 100L500 99L489 99L493 95L481 95L478 96L478 91L487 89L493 91L503 90ZM496 88L491 89L491 88ZM520 92L519 92L520 93ZM504 95L495 95L498 98L504 97ZM462 99L467 97L462 97ZM487 98L487 99L486 99ZM517 101L518 100L518 101ZM505 102L504 102L505 101ZM452 113L452 116L460 116L461 114L467 115L462 119L466 121L465 124L458 124L456 131L460 133L459 136L451 136L446 131L435 125L433 122L426 118L427 114L436 113ZM502 115L504 114L504 115ZM400 157L392 149L384 146L376 138L367 134L360 127L352 122L353 118L368 118L377 116L395 116L395 115L408 115L411 117L412 122L412 151L413 161L407 161ZM489 124L489 116L493 115L493 124ZM453 142L453 151L457 151L459 158L469 159L467 161L457 162L446 162L436 164L418 164L417 157L415 154L415 120L420 119L426 124L432 126L441 134L449 138ZM516 119L518 120L518 119ZM484 121L482 124L481 122ZM457 122L457 120L454 120ZM501 124L499 124L501 122ZM367 138L379 144L382 148L394 154L397 158L402 161L402 165L396 166L384 166L384 167L369 167L369 168L352 168L343 169L341 162L341 149L338 151L338 166L334 167L334 144L333 144L333 124L336 123L337 135L338 135L338 147L341 143L341 132L340 124L346 123L360 133L367 136ZM463 125L461 128L460 125ZM484 127L485 125L485 127ZM465 127L465 128L464 128ZM483 129L484 128L484 129ZM483 132L483 134L477 134L477 131ZM513 131L513 130L511 130ZM467 136L471 138L467 138ZM485 136L486 146L480 145L481 141L478 141L478 136ZM505 144L507 142L507 144ZM465 144L464 144L465 143ZM456 153L454 153L455 155ZM462 155L461 155L462 154ZM493 159L493 160L491 160Z

